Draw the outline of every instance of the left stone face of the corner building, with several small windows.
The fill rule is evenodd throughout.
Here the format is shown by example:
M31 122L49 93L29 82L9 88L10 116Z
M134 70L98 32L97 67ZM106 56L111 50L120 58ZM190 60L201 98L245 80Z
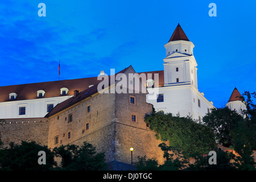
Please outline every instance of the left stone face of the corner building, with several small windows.
M90 106L89 113L88 106ZM114 108L114 94L97 93L54 115L49 121L48 146L54 148L60 144L81 145L83 142L89 142L96 147L97 152L105 152L106 162L114 160ZM72 122L69 122L70 114L72 114ZM86 123L89 123L88 130ZM70 138L68 138L69 132L71 132ZM59 138L58 143L55 143L55 137Z

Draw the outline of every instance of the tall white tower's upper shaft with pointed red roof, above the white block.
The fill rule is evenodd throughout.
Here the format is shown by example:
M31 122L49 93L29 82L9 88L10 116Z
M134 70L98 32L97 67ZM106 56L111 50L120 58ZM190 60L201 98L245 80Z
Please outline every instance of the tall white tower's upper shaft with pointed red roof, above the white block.
M195 46L180 24L164 47L164 86L192 84L197 89L197 63L193 56Z

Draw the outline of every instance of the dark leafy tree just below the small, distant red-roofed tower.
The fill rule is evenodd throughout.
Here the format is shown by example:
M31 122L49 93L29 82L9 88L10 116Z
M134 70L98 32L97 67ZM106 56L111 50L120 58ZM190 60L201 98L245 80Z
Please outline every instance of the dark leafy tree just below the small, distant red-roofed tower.
M203 117L204 124L213 130L218 143L225 147L232 146L232 132L240 121L243 121L242 116L228 107L211 109Z

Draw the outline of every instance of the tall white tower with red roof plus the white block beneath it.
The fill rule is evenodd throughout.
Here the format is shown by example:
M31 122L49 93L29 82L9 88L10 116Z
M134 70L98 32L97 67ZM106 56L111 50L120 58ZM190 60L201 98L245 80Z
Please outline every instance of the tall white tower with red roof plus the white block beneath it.
M189 41L180 24L174 30L166 48L164 63L164 84L159 86L156 100L147 99L156 111L190 116L199 123L210 112L213 103L197 88L197 63L193 56L194 44ZM147 89L151 93L151 89Z

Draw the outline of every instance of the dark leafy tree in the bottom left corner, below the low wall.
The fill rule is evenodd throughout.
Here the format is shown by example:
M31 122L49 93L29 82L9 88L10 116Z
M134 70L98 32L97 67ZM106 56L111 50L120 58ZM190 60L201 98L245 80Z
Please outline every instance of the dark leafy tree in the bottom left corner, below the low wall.
M7 171L23 170L49 170L56 165L54 154L47 146L40 146L35 142L15 144L10 142L9 148L0 150L0 168ZM46 152L46 164L39 164L39 151Z

